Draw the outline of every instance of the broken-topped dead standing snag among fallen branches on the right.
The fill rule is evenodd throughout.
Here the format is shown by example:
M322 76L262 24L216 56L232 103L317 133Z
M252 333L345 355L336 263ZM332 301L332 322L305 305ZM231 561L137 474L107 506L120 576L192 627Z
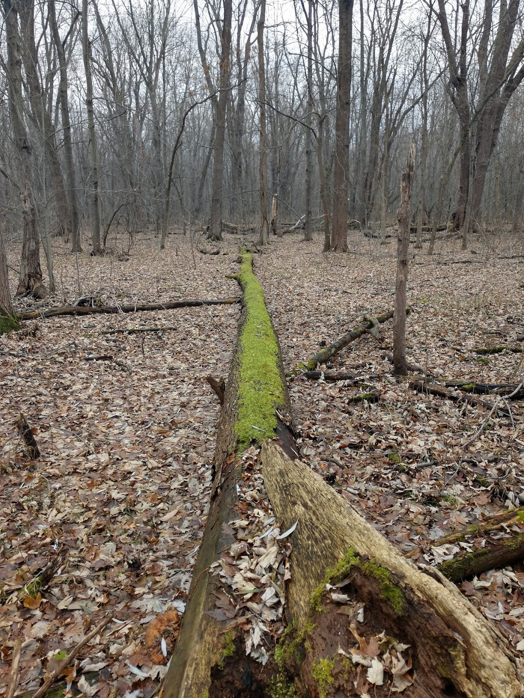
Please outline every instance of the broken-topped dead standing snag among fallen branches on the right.
M395 283L395 314L393 315L393 366L396 376L407 376L406 360L406 294L409 223L411 218L411 181L415 160L415 146L409 146L407 165L402 173L400 206L398 208L397 280Z

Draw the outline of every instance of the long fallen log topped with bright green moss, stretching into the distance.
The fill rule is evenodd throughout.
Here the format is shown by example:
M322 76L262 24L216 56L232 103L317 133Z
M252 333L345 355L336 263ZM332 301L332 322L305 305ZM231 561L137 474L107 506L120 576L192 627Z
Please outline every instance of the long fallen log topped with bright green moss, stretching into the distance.
M210 565L233 543L224 530L224 523L239 517L235 505L238 503L237 484L242 482L243 475L242 451L250 443L271 438L279 428L284 429L277 410L284 419L290 419L278 341L265 307L263 290L253 274L252 255L242 255L240 274L236 278L243 291L242 310L238 343L217 426L210 511L180 634L163 681L163 698L258 695L259 687L267 683L271 671L270 662L264 667L247 657L243 648L228 652L231 654L228 667L224 671L217 669L224 659L224 644L233 646L235 632L240 633L240 629L235 628L232 634L227 632L226 637L226 623L208 613L216 609L213 592L219 588L218 575L209 574ZM240 647L242 641L237 644Z

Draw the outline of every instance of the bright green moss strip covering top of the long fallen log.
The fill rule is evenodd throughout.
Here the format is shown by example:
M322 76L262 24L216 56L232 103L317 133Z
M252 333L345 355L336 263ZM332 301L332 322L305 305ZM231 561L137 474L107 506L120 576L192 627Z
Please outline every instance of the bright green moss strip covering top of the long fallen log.
M271 438L277 428L275 410L284 404L277 338L264 293L253 274L253 255L242 254L238 281L244 291L247 318L240 334L240 385L235 433L239 452L253 441Z

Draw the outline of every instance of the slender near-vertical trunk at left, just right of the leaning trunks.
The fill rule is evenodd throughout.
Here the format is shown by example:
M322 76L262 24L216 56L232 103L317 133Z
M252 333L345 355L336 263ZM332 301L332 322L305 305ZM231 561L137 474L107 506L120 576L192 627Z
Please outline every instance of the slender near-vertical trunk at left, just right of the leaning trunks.
M87 34L88 18L87 18L87 3L88 0L82 0L82 56L84 59L85 70L85 103L87 109L87 152L89 155L89 177L87 178L87 186L90 201L91 214L91 240L92 254L101 254L100 246L100 201L99 201L99 154L96 147L96 129L94 126L94 109L93 109L93 79L91 72L91 57L89 55L89 36ZM74 243L74 241L73 241ZM73 252L76 250L73 247Z

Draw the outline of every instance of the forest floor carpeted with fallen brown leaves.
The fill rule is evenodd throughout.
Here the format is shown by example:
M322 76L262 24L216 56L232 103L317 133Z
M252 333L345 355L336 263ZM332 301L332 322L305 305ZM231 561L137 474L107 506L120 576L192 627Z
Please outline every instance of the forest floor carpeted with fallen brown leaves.
M18 300L17 310L82 294L109 305L240 296L226 274L238 271L242 242L226 236L219 255L203 255L182 235L161 253L143 239L129 256L82 253L77 267L55 241L57 293L38 304ZM351 232L349 248L326 255L319 240L297 233L255 255L286 371L365 313L393 309L395 244ZM11 248L13 267L19 254ZM524 244L509 235L474 240L467 252L456 237L437 242L432 257L416 251L408 361L447 380L521 383L522 353L475 349L524 348L523 263ZM66 683L100 698L154 692L208 512L219 403L205 376L227 375L238 314L237 305L216 305L57 317L25 323L38 325L35 336L0 337L0 693L17 637L24 695L108 613L115 620L71 662ZM159 331L108 334L144 327ZM440 537L524 502L524 410L511 401L511 416L497 417L414 392L391 373L391 320L381 333L382 341L365 334L333 360L376 386L378 402L351 403L358 389L344 383L300 373L290 380L300 455L403 554L435 563L449 553ZM34 461L14 426L19 413L41 450ZM48 586L27 595L61 552ZM524 566L460 588L518 655Z

